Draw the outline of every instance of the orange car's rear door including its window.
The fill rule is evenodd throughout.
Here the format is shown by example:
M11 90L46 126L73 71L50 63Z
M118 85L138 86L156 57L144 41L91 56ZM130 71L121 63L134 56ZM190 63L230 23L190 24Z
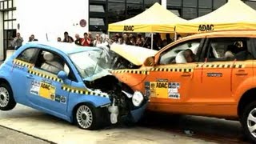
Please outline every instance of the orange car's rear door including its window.
M201 63L194 69L194 77L189 100L196 108L197 114L222 114L226 110L223 106L235 104L232 91L235 83L242 82L245 73L252 74L252 70L242 68L242 59L234 52L237 42L247 49L248 38L209 38L202 50ZM233 52L230 52L233 51ZM242 50L242 48L241 48ZM251 73L251 74L250 74ZM238 76L239 75L239 76ZM234 80L234 77L238 78ZM237 82L235 82L237 81ZM235 83L234 83L235 82Z

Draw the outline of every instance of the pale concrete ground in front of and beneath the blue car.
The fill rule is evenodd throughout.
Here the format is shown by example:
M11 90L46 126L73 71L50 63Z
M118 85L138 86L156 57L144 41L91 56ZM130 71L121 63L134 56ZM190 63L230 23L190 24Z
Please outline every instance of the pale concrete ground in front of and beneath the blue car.
M81 130L62 119L43 114L38 110L32 110L26 106L18 105L14 110L0 111L0 125L38 138L46 139L56 143L214 143L206 142L198 138L190 138L163 130L154 130L146 127L134 126L111 126L104 130ZM6 134L5 134L6 133ZM3 130L1 135L8 135L8 130ZM8 138L3 137L6 142ZM25 138L27 142L34 142ZM43 142L43 141L42 141ZM8 142L11 144L11 141ZM15 143L15 142L14 142ZM37 142L41 143L41 142Z

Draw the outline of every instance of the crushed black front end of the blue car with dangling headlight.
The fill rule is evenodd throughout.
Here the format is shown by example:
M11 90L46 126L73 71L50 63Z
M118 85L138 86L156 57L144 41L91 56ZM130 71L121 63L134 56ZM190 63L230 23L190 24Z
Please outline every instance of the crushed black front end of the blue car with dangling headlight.
M104 74L103 74L104 75ZM131 90L125 83L119 82L112 74L106 74L102 78L84 81L90 90L100 90L108 95L110 104L105 105L110 122L115 124L127 119L129 122L138 122L146 110L148 98L141 92Z

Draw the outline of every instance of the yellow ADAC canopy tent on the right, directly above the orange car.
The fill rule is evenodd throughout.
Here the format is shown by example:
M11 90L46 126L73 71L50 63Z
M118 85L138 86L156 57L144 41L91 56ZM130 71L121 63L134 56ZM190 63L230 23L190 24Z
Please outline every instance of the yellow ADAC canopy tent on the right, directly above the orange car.
M178 33L252 29L256 29L256 11L241 0L229 0L210 14L176 25Z

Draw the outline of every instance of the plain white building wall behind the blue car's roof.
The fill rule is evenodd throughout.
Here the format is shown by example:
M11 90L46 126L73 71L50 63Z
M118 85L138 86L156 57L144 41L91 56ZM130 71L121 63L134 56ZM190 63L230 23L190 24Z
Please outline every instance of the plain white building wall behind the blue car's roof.
M20 24L20 32L27 42L31 34L39 41L57 41L63 39L63 33L68 31L74 38L74 34L88 32L88 26L81 27L81 19L89 19L88 0L18 0L17 23ZM78 26L74 26L78 23Z

